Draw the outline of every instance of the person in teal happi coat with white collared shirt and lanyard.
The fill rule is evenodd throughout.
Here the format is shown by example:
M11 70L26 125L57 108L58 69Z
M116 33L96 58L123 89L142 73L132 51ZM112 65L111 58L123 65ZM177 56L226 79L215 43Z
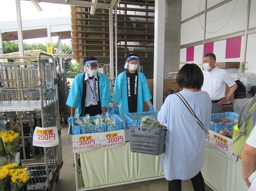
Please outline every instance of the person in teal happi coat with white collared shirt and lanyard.
M103 73L98 72L98 61L93 56L86 56L84 61L84 73L78 74L71 86L67 105L71 107L68 122L77 114L84 117L106 112L106 106L111 102L109 80Z

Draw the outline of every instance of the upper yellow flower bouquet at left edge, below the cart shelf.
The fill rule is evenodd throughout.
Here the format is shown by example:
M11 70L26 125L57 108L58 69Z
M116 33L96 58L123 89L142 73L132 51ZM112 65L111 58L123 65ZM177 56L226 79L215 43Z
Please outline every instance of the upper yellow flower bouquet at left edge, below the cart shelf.
M4 140L5 152L13 153L17 152L19 147L19 133L14 131L1 132Z

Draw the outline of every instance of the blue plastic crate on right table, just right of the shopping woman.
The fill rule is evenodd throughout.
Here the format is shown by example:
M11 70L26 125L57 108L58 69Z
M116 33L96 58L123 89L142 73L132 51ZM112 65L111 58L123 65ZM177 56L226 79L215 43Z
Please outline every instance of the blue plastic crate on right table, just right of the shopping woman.
M234 112L226 112L226 113L212 113L211 119L217 118L230 118L230 119L238 119L239 114ZM227 130L233 130L236 122L234 123L214 123L211 121L210 130L219 132L221 129L226 128Z

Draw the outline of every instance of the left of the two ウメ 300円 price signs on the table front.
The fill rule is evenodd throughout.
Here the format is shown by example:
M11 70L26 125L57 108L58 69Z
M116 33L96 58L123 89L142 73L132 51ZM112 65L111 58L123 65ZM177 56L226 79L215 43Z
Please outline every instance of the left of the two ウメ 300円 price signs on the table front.
M100 148L99 133L73 135L73 153L92 151Z

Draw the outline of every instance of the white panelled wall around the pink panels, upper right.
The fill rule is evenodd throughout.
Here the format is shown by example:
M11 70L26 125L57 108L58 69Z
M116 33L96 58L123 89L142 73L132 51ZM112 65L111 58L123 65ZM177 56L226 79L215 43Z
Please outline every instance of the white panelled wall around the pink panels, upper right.
M186 63L187 47L194 46L194 61L188 63L195 63L201 67L204 54L203 43L206 41L206 43L213 42L213 53L217 57L217 62L240 62L241 67L238 69L238 72L243 70L245 64L244 72L256 73L256 0L251 0L249 26L247 28L249 35L247 35L246 40L248 2L245 0L233 0L230 2L221 0L207 1L207 9L211 8L212 10L206 9L206 30L204 38L203 26L205 14L203 12L199 16L196 14L199 10L201 11L200 7L203 6L205 1L194 0L194 5L191 5L191 10L189 11L190 6L188 0L182 0L182 19L188 19L191 16L195 16L195 18L188 19L181 24L180 65ZM226 59L227 39L239 36L241 37L240 55Z

